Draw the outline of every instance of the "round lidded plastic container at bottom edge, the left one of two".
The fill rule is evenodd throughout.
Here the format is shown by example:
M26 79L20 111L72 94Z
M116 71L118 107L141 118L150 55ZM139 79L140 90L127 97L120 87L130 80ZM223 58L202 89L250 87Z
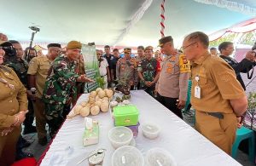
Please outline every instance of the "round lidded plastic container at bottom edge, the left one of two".
M144 157L136 147L119 147L112 156L112 166L143 166Z

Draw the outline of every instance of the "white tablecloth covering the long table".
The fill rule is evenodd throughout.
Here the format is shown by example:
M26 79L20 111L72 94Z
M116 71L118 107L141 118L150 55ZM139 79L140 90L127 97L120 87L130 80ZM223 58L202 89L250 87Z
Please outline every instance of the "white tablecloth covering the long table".
M78 104L87 97L88 94L83 94ZM140 112L139 122L141 124L152 122L161 127L160 136L156 140L146 139L139 129L136 143L144 156L150 148L160 147L172 154L177 166L241 165L144 91L131 91L131 103L136 105ZM114 149L108 140L108 131L113 128L113 119L109 112L101 112L92 118L100 123L100 139L97 145L83 146L83 117L67 119L50 145L41 165L75 165L89 152L105 148L107 152L103 165L111 166ZM79 165L85 165L84 163Z

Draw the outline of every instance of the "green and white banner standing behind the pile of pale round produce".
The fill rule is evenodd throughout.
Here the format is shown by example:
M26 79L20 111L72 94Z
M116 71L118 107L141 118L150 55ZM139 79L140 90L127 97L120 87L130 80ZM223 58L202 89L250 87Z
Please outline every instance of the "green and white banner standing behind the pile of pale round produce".
M84 70L86 77L90 77L96 81L96 78L100 76L98 60L96 58L96 46L89 46L82 44L82 54L84 58ZM85 83L85 93L90 93L92 90L98 88L98 83Z

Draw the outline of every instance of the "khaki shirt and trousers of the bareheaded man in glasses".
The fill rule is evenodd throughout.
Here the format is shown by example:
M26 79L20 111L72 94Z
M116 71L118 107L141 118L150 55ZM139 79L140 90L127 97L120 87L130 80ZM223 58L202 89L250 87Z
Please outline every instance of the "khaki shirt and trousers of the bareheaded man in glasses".
M200 88L200 97L196 96L196 87ZM235 72L224 60L206 52L192 63L191 104L195 108L195 128L229 154L237 127L230 100L244 96Z

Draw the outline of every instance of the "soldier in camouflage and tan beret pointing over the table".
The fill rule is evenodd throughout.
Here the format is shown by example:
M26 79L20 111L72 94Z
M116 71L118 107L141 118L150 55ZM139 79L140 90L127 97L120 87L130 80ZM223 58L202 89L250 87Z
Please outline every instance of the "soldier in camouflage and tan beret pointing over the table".
M66 54L61 54L52 63L46 79L43 100L45 116L49 123L49 134L55 136L65 117L62 113L77 97L76 82L92 82L75 72L82 44L77 41L67 43Z

